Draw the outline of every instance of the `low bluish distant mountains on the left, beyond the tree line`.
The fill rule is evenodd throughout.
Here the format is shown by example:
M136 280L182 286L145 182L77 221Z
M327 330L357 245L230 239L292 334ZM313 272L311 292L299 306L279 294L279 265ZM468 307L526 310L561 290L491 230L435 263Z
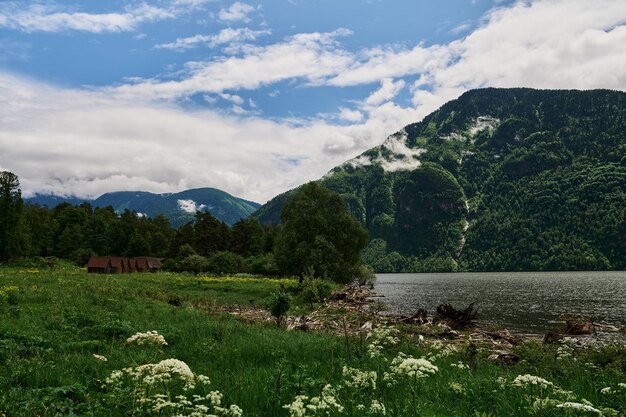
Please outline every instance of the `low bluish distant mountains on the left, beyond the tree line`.
M174 194L119 191L103 194L95 200L36 194L24 201L48 207L56 207L62 203L89 203L93 207L111 206L118 213L128 209L149 217L163 214L173 227L192 221L196 211L209 212L224 223L232 225L250 216L260 207L258 203L233 197L215 188L196 188Z

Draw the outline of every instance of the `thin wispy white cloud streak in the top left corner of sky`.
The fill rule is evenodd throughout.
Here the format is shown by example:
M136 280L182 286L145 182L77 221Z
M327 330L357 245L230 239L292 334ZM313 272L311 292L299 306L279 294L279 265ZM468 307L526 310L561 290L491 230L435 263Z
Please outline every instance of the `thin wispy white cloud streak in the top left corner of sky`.
M23 32L61 32L67 30L104 33L127 32L144 22L175 17L175 10L146 3L128 8L123 13L82 13L67 11L48 4L5 3L0 5L0 27Z

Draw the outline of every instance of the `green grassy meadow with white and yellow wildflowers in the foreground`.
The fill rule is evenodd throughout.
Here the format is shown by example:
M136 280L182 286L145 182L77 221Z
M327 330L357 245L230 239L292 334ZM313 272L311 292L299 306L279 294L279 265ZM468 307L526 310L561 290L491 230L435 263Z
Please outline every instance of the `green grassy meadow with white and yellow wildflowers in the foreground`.
M415 327L340 337L223 312L296 285L0 268L0 416L626 414L624 346L528 341L505 365Z

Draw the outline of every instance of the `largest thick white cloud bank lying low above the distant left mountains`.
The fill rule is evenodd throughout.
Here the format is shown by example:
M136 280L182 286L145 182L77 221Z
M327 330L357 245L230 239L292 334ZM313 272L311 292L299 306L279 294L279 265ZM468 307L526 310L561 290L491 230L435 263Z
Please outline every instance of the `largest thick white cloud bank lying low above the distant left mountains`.
M292 126L124 102L2 72L0 91L0 160L20 177L25 195L211 186L264 202L321 177L416 117L381 109L348 126L320 120Z

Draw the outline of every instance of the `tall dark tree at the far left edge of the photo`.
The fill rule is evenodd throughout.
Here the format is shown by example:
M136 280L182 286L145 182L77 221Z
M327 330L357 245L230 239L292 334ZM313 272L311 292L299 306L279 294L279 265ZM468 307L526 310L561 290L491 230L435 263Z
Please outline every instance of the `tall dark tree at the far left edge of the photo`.
M22 205L22 191L17 175L9 171L0 172L0 259L12 256L7 252L7 244L20 221Z

